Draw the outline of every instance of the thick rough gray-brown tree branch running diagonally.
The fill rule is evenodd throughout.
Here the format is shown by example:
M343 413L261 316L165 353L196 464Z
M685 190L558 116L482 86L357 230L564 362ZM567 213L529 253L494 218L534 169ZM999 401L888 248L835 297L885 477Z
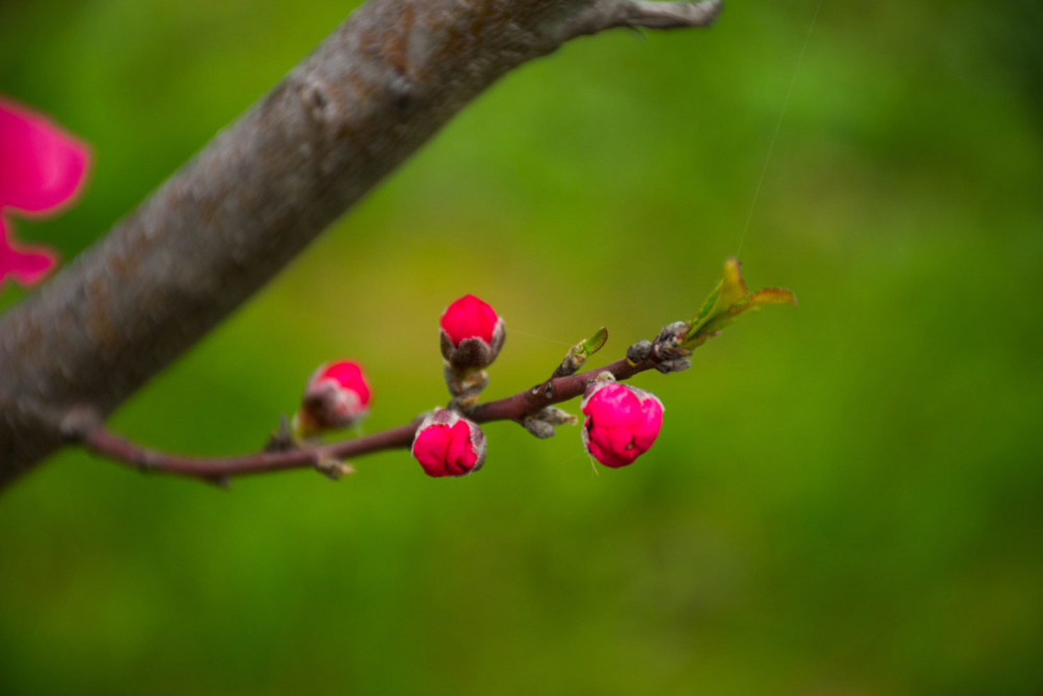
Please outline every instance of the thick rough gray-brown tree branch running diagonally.
M717 2L370 0L0 320L0 487L104 418L501 75Z

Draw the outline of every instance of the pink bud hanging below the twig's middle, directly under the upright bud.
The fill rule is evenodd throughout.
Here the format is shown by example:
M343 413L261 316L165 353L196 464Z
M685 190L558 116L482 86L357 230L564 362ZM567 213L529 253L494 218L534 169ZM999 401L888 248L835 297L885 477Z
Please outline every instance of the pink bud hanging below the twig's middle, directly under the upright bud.
M429 413L416 429L413 456L428 476L463 476L485 461L485 433L446 408Z

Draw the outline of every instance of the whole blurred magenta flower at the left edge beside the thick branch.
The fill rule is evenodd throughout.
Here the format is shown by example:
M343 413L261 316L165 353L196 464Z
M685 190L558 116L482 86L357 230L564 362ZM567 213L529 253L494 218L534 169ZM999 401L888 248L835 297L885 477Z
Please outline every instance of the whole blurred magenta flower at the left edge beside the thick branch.
M46 246L18 244L8 210L23 217L53 214L87 178L90 151L47 117L0 97L0 287L8 277L40 282L57 260Z

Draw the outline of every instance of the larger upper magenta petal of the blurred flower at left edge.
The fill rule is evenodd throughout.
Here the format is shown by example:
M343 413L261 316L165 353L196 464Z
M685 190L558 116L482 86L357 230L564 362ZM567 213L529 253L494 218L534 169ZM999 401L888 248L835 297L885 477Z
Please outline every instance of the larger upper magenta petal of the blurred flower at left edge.
M49 119L0 99L0 209L57 208L75 196L89 161L87 146Z

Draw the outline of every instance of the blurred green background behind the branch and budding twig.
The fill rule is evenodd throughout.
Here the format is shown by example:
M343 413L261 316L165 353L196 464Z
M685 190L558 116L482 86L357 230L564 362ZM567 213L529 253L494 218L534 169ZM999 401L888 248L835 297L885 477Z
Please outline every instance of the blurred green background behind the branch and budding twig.
M19 235L73 257L351 4L4 3L0 93L95 153ZM365 429L398 425L445 399L464 292L508 323L489 397L690 316L814 14L731 2L508 75L114 427L256 449L340 356ZM459 480L389 452L226 493L56 456L0 497L0 693L1043 693L1041 15L823 4L741 253L801 304L639 376L666 414L628 469L505 423Z

